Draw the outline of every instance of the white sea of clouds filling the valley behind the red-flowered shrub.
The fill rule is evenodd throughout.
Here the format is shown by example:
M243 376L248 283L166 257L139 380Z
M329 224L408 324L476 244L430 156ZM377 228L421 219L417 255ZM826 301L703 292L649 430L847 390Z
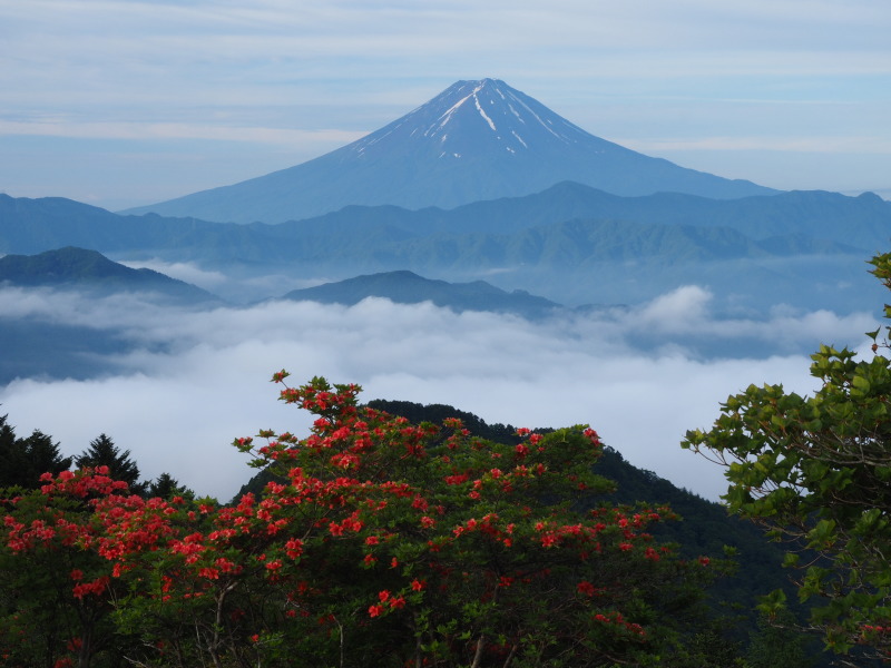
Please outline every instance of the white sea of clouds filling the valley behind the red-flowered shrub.
M21 379L0 390L20 435L41 429L71 454L105 432L144 477L167 471L222 500L252 474L233 439L261 429L305 433L311 422L276 401L268 379L282 367L296 383L325 375L360 383L366 400L447 403L490 423L589 423L635 465L716 499L721 472L678 448L685 431L711 424L719 402L750 383L812 390L801 351L819 341L860 344L874 325L825 312L714 321L697 287L633 311L538 324L383 299L188 312L10 288L0 291L0 313L120 330L138 344L117 358L115 375ZM723 341L730 352L745 340L765 353L704 356L697 340ZM794 352L766 352L777 350Z

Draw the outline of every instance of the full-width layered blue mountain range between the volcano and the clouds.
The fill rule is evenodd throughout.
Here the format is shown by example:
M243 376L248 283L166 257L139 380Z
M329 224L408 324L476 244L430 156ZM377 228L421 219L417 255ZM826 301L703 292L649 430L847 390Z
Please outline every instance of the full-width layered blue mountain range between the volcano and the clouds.
M620 197L561 183L450 210L350 206L280 225L120 216L0 195L0 253L78 246L118 261L197 263L245 278L238 286L257 274L330 282L410 271L568 305L638 303L696 284L718 308L872 308L883 297L864 263L889 238L891 203L870 194Z

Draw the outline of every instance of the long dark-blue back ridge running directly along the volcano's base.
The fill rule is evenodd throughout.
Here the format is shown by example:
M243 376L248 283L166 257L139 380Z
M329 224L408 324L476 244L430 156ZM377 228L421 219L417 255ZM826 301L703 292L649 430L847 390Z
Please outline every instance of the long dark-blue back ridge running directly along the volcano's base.
M295 253L324 261L349 250L361 259L363 249L410 238L510 235L571 219L727 227L760 242L793 235L835 242L863 253L885 247L891 238L891 203L872 194L849 197L809 190L731 200L684 194L619 197L565 181L533 195L449 210L347 206L281 225L225 225L154 214L120 216L70 199L0 194L0 252L32 254L74 245L141 257L249 263L291 258Z

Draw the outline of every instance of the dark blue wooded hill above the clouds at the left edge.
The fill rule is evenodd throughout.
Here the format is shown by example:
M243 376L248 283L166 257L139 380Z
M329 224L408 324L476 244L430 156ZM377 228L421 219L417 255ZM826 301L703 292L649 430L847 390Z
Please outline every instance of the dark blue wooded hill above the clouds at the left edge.
M0 257L0 285L89 289L99 293L141 292L177 301L216 299L210 293L151 269L133 269L97 250L67 246L38 255Z

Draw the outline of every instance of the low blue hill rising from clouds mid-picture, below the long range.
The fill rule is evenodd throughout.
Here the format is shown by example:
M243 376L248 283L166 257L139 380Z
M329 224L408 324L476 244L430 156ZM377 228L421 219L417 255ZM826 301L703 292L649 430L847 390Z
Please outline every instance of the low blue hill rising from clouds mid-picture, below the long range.
M412 272L384 272L295 289L283 298L351 306L366 297L385 297L398 304L432 302L456 312L492 311L528 318L542 317L560 308L559 304L523 291L505 292L484 281L448 283L431 281Z

